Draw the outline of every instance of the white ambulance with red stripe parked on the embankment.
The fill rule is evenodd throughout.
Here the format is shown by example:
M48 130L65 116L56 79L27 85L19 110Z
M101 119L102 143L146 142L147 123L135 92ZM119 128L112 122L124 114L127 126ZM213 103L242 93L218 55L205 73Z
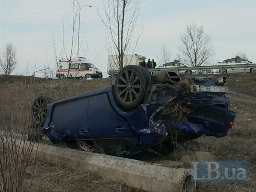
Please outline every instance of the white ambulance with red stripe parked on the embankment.
M70 67L69 67L70 66ZM58 62L57 78L102 78L102 72L84 57L61 58Z

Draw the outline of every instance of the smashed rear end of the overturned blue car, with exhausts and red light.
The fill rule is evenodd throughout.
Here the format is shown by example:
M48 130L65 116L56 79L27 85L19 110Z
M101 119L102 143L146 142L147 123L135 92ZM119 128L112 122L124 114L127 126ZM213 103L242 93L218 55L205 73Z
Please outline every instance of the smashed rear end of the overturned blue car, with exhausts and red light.
M164 77L170 76L170 78ZM225 77L180 77L170 71L154 76L160 83L152 87L148 104L163 105L150 117L150 131L167 135L170 140L185 142L201 135L223 137L232 128L236 113L229 110L223 86ZM163 78L164 77L164 78ZM160 79L161 78L161 79ZM169 100L168 100L169 98Z

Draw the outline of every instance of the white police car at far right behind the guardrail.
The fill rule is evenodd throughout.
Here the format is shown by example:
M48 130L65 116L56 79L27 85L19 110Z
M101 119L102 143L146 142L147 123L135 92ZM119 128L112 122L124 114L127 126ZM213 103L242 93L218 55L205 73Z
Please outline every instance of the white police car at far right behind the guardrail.
M237 65L237 64L252 64L252 62L236 56L235 58L226 59L223 62L218 62L218 65ZM220 73L238 73L244 72L244 68L222 68ZM256 67L246 68L246 72L256 73Z

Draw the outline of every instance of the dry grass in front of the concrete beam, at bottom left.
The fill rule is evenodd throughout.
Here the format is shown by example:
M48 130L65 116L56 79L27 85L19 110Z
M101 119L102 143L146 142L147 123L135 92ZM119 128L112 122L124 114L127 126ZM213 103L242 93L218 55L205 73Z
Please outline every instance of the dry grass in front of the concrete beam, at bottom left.
M33 170L36 173L33 175ZM110 182L93 173L73 170L66 164L49 164L36 159L26 172L28 181L32 181L33 192L134 192L129 186ZM139 191L139 190L138 190Z

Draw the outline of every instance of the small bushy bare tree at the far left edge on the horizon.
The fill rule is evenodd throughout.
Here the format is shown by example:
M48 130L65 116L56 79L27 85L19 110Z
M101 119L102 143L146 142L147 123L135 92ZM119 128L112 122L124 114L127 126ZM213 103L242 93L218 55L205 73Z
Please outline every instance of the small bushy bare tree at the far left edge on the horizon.
M12 42L7 42L5 48L0 53L0 66L4 71L4 74L10 75L14 69L16 69L17 61L17 48Z

